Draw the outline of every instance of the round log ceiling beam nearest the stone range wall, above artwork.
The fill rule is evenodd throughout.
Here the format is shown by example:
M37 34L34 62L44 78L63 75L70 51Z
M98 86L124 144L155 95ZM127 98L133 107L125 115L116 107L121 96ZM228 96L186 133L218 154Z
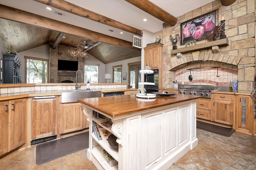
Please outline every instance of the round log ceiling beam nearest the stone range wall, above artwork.
M130 4L140 8L141 10L147 12L148 14L158 18L159 20L175 26L177 24L177 18L164 11L162 8L156 6L149 0L125 0Z

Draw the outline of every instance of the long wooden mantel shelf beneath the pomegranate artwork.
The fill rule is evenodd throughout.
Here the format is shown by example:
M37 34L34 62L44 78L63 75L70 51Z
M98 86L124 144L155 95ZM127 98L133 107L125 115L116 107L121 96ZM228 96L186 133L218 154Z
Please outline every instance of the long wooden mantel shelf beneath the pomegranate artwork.
M227 46L228 45L228 39L224 38L224 39L220 39L220 40L216 40L216 41L212 41L212 42L206 42L206 43L200 43L197 45L192 45L189 47L183 47L180 49L174 49L171 50L171 54L177 54L177 53L187 53L190 51L197 51L200 49L207 49L210 48L212 46Z

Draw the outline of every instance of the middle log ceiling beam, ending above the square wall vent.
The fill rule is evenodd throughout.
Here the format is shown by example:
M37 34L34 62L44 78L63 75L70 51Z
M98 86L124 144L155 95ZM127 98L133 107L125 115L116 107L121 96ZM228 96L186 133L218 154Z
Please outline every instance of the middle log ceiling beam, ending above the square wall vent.
M139 30L137 28L133 28L131 26L128 26L126 24L123 24L121 22L118 22L116 20L108 18L106 16L102 16L102 15L92 12L90 10L86 10L80 6L76 6L74 4L66 2L64 0L34 0L34 1L52 6L54 8L58 8L59 10L66 11L66 12L69 12L69 13L77 15L77 16L81 16L81 17L99 22L101 24L112 26L114 28L118 28L120 30L124 30L126 32L130 32L132 34L141 36L141 30ZM112 9L112 10L114 10L114 9Z

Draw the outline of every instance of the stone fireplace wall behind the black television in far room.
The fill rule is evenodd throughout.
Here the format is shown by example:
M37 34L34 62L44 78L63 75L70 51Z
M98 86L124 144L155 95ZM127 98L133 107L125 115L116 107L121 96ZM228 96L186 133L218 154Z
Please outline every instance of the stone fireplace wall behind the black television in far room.
M52 49L51 47L49 48L50 48L49 50L49 63L50 63L49 83L61 83L61 81L64 81L64 80L70 80L70 81L73 81L74 83L76 82L76 71L58 71L58 59L78 61L78 69L80 69L84 75L84 58L71 57L67 52L68 49L71 49L71 47L58 45L56 49ZM80 73L78 77L81 78ZM78 82L81 82L80 79Z

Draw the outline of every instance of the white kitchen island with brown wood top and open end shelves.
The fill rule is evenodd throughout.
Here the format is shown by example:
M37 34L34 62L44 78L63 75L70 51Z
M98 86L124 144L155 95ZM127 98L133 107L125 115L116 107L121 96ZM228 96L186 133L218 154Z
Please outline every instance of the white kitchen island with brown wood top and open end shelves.
M168 169L198 145L196 100L199 96L172 95L152 99L135 95L79 99L90 122L87 157L98 169ZM94 135L94 114L111 119L118 150ZM100 124L101 125L101 124ZM106 150L117 162L105 160Z

